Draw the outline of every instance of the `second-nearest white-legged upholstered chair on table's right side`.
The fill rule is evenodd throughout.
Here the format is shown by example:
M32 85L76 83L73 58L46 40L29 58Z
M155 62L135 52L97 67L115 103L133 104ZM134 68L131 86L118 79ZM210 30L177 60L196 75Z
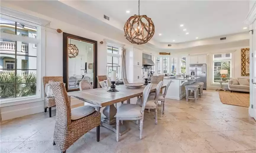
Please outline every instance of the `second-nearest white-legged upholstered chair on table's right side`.
M163 81L160 81L157 84L155 97L149 97L147 99L146 106L145 106L145 109L148 109L148 110L154 109L155 124L157 124L157 102L158 102L158 99L159 99L159 94L160 94L160 90L162 88L162 85L163 85ZM142 104L141 103L141 97L139 99L137 99L136 104L140 104L140 105Z

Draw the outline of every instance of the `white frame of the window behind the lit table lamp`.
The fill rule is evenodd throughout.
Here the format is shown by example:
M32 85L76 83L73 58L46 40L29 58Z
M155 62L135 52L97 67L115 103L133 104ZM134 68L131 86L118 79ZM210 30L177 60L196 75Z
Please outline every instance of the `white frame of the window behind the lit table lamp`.
M212 54L212 84L220 84L219 82L214 82L214 62L218 61L229 61L230 62L230 76L229 78L233 77L233 54L231 52L227 53L216 53L216 54L230 54L230 59L215 59L214 60L214 55ZM228 82L223 82L222 84L228 84Z

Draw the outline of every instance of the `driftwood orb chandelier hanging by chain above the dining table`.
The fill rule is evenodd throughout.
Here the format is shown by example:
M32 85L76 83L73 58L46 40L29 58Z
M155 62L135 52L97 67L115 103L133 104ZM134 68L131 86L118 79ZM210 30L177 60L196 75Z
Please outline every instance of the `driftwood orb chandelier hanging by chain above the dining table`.
M125 38L132 44L145 44L155 33L155 26L151 18L146 15L140 15L140 1L139 1L139 15L131 16L124 25Z

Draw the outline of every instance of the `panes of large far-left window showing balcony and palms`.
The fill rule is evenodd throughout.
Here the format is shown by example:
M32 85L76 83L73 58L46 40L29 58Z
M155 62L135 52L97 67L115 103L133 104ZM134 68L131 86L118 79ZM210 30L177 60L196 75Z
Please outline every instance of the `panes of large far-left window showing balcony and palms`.
M40 26L2 15L0 29L1 102L39 98Z

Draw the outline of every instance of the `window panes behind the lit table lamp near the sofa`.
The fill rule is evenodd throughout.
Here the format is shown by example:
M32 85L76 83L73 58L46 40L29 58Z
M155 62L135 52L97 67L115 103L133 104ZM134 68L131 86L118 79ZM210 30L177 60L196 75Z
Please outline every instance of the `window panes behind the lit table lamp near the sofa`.
M213 82L218 80L228 80L231 77L231 53L213 55ZM228 70L228 74L220 74L220 70Z

